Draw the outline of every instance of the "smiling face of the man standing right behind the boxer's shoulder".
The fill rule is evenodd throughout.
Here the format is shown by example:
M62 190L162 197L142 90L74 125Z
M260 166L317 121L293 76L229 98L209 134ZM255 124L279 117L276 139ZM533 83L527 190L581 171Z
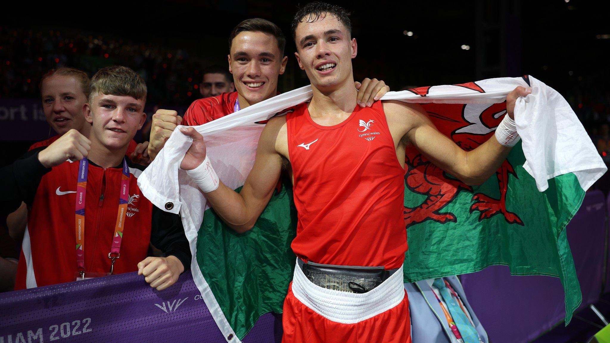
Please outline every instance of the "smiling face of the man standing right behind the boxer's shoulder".
M243 31L236 35L231 42L229 71L240 101L253 105L275 96L278 76L284 74L287 60L271 34Z

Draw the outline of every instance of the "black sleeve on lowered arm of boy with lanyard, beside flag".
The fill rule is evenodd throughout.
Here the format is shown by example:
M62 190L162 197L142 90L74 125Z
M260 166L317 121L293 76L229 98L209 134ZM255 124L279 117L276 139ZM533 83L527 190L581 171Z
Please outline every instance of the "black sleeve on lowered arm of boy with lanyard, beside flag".
M176 256L190 270L191 253L180 215L152 206L151 243L166 256Z

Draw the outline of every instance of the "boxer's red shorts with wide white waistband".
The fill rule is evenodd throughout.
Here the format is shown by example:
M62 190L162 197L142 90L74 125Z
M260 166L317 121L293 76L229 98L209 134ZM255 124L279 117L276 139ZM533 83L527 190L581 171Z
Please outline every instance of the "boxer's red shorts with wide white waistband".
M403 268L369 292L312 283L296 265L284 300L282 343L411 343Z

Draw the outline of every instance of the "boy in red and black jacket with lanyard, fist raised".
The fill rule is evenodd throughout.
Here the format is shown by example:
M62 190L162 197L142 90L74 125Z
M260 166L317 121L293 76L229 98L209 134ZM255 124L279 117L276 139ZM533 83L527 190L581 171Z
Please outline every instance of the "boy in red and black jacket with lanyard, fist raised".
M104 68L88 101L89 139L74 129L13 164L12 181L30 209L15 289L136 270L165 289L191 255L180 218L143 197L143 167L125 156L146 118L146 85L129 68ZM149 242L168 257L146 258Z

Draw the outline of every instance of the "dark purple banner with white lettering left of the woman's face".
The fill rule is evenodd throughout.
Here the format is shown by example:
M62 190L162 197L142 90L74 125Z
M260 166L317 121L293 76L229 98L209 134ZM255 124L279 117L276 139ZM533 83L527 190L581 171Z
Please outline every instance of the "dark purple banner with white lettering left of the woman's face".
M0 140L43 140L56 135L40 99L0 99Z

